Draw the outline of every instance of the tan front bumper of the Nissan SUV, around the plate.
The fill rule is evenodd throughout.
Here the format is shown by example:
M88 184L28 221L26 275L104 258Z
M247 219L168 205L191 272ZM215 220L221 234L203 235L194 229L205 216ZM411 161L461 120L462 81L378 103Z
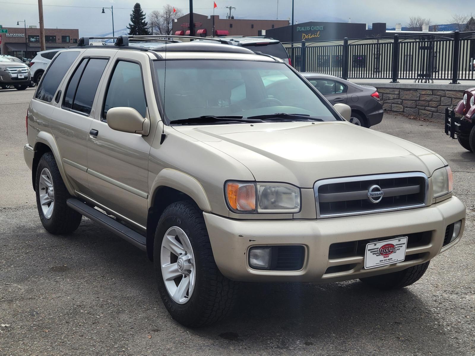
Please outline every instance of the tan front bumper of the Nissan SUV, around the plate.
M236 281L302 281L326 283L396 272L426 262L455 245L463 234L465 206L456 197L418 209L329 219L234 220L203 213L219 270ZM447 225L462 220L458 238L442 247ZM406 261L364 269L362 255L329 259L331 244L430 232L427 243L406 250ZM300 271L258 271L248 264L248 250L256 245L295 244L305 248ZM412 258L408 256L413 255ZM414 258L416 257L416 258ZM329 267L353 265L327 272Z

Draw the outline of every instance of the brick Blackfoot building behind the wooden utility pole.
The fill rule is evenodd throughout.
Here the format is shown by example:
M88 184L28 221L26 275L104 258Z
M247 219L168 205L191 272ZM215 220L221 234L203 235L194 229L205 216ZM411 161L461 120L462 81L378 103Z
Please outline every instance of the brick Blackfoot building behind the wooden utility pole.
M41 50L39 28L30 26L4 27L8 33L2 33L1 53L19 58L33 58ZM26 33L25 33L26 32ZM79 30L71 28L45 28L46 49L67 48L77 43Z

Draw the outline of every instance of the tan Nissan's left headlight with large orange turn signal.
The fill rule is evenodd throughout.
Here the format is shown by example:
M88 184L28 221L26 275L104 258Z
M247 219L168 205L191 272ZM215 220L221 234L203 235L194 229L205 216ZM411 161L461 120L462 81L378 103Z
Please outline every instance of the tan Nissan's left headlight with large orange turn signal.
M300 189L285 183L227 182L226 201L235 213L282 214L300 211Z

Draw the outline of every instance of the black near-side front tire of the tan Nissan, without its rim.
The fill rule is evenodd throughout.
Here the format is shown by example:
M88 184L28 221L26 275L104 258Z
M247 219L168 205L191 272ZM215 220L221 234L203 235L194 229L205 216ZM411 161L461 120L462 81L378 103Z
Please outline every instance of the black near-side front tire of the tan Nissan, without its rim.
M161 244L172 226L187 234L195 257L195 286L190 299L184 304L176 303L171 298L161 272ZM212 324L224 318L236 303L239 284L219 272L203 212L193 202L176 202L164 210L155 231L153 264L163 304L171 317L186 327Z

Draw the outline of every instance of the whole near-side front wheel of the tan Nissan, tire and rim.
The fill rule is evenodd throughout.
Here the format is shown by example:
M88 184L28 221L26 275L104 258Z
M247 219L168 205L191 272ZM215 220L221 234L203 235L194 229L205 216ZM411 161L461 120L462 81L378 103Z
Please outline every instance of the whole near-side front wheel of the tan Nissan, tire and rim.
M238 283L219 272L203 213L194 203L180 201L165 209L155 232L153 263L163 304L180 324L209 325L234 306Z

